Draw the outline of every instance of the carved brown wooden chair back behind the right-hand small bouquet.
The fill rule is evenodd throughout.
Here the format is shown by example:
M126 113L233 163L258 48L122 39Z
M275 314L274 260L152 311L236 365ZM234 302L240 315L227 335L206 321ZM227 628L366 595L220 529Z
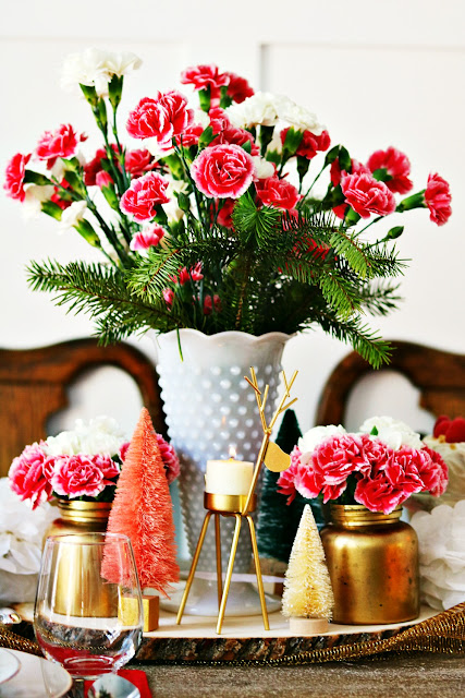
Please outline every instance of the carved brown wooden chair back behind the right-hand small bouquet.
M411 341L392 342L392 359L381 371L404 375L420 394L419 406L433 416L465 414L465 354L425 347ZM332 371L320 395L316 424L343 424L352 389L374 369L355 351Z

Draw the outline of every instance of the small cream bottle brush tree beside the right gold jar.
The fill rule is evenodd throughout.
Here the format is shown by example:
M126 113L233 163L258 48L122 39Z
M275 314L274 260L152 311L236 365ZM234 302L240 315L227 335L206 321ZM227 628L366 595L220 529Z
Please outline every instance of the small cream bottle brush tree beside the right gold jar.
M325 551L310 506L302 514L284 579L282 613L296 633L325 633L334 598Z

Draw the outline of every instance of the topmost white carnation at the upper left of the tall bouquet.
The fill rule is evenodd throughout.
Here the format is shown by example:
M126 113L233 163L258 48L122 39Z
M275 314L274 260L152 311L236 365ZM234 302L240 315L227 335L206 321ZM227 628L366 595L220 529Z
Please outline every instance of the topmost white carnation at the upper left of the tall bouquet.
M142 60L131 51L105 51L88 48L83 53L71 53L63 63L61 85L65 89L94 85L99 97L108 95L108 83L113 75L121 77L137 70Z

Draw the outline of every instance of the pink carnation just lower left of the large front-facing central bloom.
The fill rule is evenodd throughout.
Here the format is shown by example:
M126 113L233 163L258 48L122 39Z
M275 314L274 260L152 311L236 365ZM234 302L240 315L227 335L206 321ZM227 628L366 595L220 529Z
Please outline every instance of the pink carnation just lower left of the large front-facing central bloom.
M137 221L150 220L157 213L157 206L168 204L166 195L168 181L158 172L147 172L131 182L121 197L120 208Z

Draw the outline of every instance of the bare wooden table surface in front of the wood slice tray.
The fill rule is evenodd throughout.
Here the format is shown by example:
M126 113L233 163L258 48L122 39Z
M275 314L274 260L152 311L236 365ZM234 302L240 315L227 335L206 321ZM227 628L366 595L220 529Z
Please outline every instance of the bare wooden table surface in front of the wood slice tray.
M461 698L465 657L421 653L306 666L140 665L154 698Z

